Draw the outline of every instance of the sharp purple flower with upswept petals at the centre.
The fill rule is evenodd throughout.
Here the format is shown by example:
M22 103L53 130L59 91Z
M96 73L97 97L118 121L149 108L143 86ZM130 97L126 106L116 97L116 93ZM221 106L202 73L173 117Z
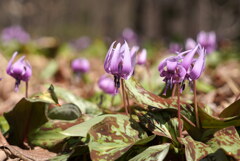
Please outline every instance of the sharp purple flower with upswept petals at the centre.
M133 74L136 52L130 52L129 46L125 41L123 44L113 42L107 52L104 69L107 73L114 76L115 87L120 87L120 78L129 79ZM133 49L132 49L133 50Z

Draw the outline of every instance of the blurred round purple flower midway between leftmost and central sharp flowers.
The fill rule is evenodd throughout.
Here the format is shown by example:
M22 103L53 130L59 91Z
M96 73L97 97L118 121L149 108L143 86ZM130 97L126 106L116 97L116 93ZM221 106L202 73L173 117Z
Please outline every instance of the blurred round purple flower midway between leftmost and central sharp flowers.
M90 69L90 64L87 59L77 58L72 61L71 64L74 73L86 73Z

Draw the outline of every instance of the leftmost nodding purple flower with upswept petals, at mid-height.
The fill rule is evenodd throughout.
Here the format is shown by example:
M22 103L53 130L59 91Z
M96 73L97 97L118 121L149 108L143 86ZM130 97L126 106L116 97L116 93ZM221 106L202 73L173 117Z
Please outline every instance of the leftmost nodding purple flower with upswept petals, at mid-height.
M15 91L18 91L21 81L28 82L32 76L32 67L27 61L25 61L25 56L22 56L15 63L13 63L17 54L18 52L13 54L12 58L8 62L6 70L7 74L16 79Z

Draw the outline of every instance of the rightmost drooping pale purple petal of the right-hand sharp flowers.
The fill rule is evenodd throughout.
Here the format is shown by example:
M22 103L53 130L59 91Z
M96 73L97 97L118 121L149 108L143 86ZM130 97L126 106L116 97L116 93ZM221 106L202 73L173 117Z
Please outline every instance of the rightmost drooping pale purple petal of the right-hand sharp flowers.
M199 50L199 57L197 59L197 61L195 62L191 72L190 72L190 78L192 80L196 80L200 77L200 75L202 74L203 72L203 69L204 69L204 65L205 65L205 55L206 55L206 51L201 48Z

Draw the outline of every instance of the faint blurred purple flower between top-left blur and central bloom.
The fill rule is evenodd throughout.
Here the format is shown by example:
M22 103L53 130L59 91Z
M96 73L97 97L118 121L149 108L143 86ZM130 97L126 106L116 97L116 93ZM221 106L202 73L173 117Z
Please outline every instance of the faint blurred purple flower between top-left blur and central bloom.
M90 44L91 44L91 39L87 36L82 36L70 43L72 47L74 47L79 51L86 49L87 47L89 47Z

